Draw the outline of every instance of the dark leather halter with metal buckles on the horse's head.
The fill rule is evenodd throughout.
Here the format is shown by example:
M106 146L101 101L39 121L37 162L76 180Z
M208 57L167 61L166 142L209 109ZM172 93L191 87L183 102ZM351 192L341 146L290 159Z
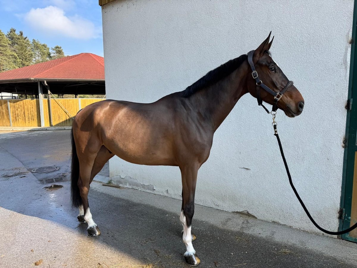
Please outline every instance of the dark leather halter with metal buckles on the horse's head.
M258 105L262 106L267 113L271 113L264 105L263 105L263 100L260 98L260 88L263 88L265 91L267 91L268 93L270 93L271 95L274 96L274 104L273 104L273 108L272 108L272 112L276 112L277 108L278 108L278 101L281 99L281 97L283 96L284 92L292 85L294 84L293 81L289 81L285 88L283 88L282 91L280 91L279 93L276 93L275 91L271 90L268 86L266 86L265 84L263 84L263 82L259 79L258 77L258 73L255 70L254 64L253 64L253 56L254 56L254 51L249 51L248 52L248 63L250 65L250 67L252 68L252 76L256 81L257 84L257 100L258 100Z

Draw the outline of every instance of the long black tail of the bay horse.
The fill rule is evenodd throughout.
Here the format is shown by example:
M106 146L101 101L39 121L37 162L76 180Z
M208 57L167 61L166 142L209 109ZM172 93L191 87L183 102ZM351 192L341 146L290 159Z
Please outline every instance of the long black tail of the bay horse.
M76 150L76 143L73 137L73 128L71 130L71 140L72 140L71 198L72 198L72 206L79 207L80 205L82 205L82 198L78 187L79 159Z

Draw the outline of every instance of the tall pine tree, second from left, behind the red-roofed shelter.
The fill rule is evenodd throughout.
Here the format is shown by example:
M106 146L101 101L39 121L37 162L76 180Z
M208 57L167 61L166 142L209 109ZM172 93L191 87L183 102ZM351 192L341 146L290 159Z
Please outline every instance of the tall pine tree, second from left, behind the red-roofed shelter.
M24 67L32 64L32 49L31 42L24 36L22 31L19 31L19 34L16 34L16 30L11 28L7 32L7 38L11 42L11 49L16 53L18 60L15 62L16 67Z

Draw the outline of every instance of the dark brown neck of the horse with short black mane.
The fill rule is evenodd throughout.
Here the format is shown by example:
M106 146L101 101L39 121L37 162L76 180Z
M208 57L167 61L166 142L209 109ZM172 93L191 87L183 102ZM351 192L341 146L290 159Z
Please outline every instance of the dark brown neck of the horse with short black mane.
M190 97L192 106L212 127L213 132L226 119L241 96L248 93L248 69L248 63L244 62L230 75Z

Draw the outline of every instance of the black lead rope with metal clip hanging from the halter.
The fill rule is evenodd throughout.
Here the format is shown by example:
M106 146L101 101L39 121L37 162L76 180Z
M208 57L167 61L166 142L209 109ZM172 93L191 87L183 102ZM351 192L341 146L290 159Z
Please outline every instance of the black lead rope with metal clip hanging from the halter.
M357 227L357 223L355 223L353 226L351 226L350 228L346 229L346 230L342 230L340 232L331 232L331 231L328 231L328 230L325 230L323 229L322 227L320 227L316 222L315 220L311 217L310 215L310 212L307 210L304 202L302 202L301 198L300 198L300 195L297 193L297 190L295 189L295 186L294 184L292 183L292 179L291 179L291 175L290 175L290 171L289 171L289 168L288 168L288 164L286 163L286 159L285 159L285 156L284 156L284 152L283 152L283 148L281 146L281 142L280 142L280 138L279 138L279 134L278 134L278 130L276 129L276 126L277 126L277 123L275 121L275 114L272 114L273 115L273 128L274 128L274 135L276 137L276 139L278 140L278 144L279 144L279 148L280 148L280 153L281 153L281 157L284 161L284 165L285 165L285 169L286 169L286 173L288 175L288 178L289 178L289 183L290 183L290 186L292 188L292 190L294 191L297 199L299 200L302 208L305 210L305 213L307 215L307 217L309 217L309 219L311 220L311 222L316 226L317 229L321 230L322 232L324 233L327 233L327 234L332 234L332 235L340 235L340 234L345 234L345 233L348 233L348 232L351 232L353 229L355 229Z

